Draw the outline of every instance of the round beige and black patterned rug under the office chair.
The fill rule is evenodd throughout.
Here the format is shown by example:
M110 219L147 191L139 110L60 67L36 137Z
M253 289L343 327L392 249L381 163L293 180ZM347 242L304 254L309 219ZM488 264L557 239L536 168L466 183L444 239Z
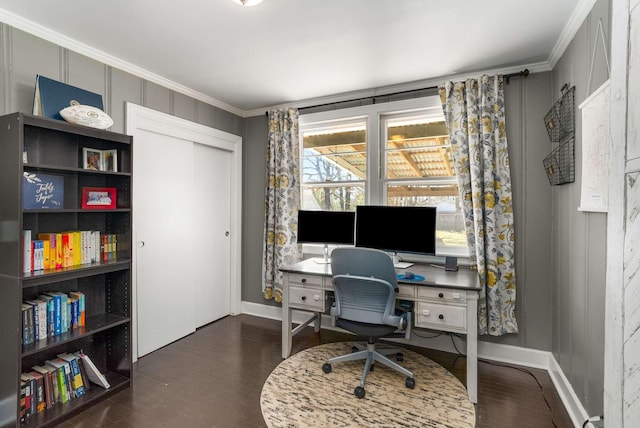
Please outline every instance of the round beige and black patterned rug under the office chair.
M413 372L415 389L405 376L380 363L360 384L364 360L333 365L329 358L351 352L351 342L328 343L284 360L262 387L260 406L269 428L279 427L438 427L473 428L475 409L462 383L441 365L404 349L401 365Z

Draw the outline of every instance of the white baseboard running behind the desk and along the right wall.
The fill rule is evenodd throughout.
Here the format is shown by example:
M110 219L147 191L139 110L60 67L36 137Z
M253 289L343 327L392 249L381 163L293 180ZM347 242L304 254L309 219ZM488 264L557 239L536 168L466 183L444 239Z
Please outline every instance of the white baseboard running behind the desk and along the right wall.
M282 320L282 308L280 306L242 302L242 313L262 318ZM309 315L305 312L293 311L294 323L302 323L308 317ZM331 328L330 319L331 318L328 316L323 316L323 328ZM437 337L422 338L418 337L417 334L425 336L434 335ZM403 340L400 341L402 342ZM466 353L466 344L463 340L448 334L437 335L437 333L426 330L420 331L419 333L414 330L413 338L410 343L412 345L424 346L429 349L436 349L454 354L460 352ZM546 370L549 373L551 381L553 382L573 424L576 427L581 427L582 423L588 418L586 410L582 406L582 403L580 403L580 400L573 391L573 387L562 372L562 368L551 352L522 348L520 346L484 342L480 340L478 341L478 358Z

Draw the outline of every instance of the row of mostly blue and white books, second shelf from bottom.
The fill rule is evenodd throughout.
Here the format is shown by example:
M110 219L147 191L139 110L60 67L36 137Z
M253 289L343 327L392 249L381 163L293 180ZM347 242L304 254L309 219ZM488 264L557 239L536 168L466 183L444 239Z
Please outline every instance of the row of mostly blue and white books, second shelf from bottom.
M22 302L22 344L58 336L85 326L85 295L80 291L40 294Z

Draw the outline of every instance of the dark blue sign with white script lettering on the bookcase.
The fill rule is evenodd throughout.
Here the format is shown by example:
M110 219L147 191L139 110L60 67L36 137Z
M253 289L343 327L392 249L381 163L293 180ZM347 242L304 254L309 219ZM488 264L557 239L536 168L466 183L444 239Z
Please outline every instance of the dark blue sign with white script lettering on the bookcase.
M24 209L64 208L64 177L24 172L22 206Z

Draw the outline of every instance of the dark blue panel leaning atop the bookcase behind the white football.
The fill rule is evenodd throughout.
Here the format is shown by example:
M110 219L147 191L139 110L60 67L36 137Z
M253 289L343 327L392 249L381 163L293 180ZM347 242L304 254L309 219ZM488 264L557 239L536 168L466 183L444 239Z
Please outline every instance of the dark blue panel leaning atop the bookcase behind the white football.
M64 120L60 110L72 105L87 105L104 110L102 95L45 76L36 75L33 114Z

